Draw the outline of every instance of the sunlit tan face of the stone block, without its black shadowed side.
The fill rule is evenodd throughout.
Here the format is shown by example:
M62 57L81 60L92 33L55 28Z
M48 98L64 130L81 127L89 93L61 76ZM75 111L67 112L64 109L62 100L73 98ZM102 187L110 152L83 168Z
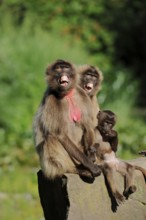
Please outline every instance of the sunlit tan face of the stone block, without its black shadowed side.
M146 168L144 157L128 162ZM110 198L103 175L97 177L92 184L82 181L77 175L66 176L67 191L62 196L66 198L67 208L64 210L68 211L68 218L57 219L56 217L51 220L146 220L146 183L140 171L135 171L137 191L119 206L116 206ZM119 191L123 193L123 177L117 174L115 181ZM62 184L60 186L62 187ZM40 194L40 198L42 196ZM49 217L46 220L49 220Z

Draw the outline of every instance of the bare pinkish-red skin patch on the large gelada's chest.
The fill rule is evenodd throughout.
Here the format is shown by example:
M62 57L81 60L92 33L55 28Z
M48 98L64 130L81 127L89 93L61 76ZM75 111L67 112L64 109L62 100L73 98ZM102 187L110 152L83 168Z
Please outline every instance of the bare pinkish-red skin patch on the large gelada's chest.
M73 93L74 90L65 96L69 104L69 118L72 122L79 122L81 120L81 110L73 99Z

